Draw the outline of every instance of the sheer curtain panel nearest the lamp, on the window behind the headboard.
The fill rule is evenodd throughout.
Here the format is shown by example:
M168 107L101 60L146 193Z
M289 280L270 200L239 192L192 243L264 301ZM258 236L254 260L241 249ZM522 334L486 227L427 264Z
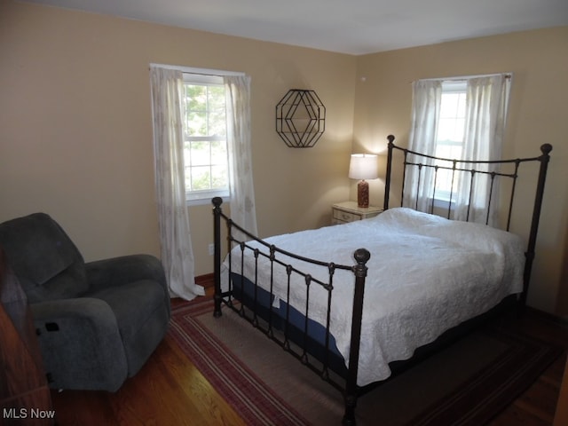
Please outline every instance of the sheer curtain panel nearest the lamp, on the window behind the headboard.
M442 103L442 82L418 80L413 83L412 122L408 149L421 154L436 154L438 119ZM423 157L409 154L408 162L425 162ZM430 162L431 163L431 162ZM433 196L434 171L430 167L409 167L405 177L403 205L430 212Z

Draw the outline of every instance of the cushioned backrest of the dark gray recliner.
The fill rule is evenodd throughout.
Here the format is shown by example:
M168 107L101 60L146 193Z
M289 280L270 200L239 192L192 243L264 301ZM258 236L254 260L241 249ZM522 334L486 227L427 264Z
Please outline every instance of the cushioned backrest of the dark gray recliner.
M86 292L83 256L49 215L34 213L0 224L0 246L30 304Z

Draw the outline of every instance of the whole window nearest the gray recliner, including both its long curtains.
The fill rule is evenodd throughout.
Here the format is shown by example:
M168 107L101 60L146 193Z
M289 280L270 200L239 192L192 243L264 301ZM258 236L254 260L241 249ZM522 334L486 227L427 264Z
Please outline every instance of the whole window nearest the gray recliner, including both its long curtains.
M202 294L202 288L193 283L188 203L209 203L212 194L229 193L231 188L233 220L257 233L250 161L250 77L150 64L150 94L162 262L170 293L189 299ZM228 170L238 179L228 177ZM187 201L186 189L201 200Z

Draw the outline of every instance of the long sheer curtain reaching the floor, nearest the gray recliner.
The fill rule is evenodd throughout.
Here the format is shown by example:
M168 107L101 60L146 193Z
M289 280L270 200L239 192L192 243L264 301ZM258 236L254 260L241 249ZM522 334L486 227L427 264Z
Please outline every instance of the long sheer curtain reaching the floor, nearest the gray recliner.
M182 130L182 73L150 67L154 116L155 185L162 264L170 296L192 300L205 294L195 285L193 248L185 201L184 138Z

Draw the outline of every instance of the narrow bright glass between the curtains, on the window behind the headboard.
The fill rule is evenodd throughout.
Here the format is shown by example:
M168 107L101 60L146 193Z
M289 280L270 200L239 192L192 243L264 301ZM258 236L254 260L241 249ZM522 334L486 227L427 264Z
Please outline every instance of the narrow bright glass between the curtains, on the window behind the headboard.
M465 135L467 83L443 82L438 132L436 138L436 157L461 158L463 138ZM459 188L461 174L452 179L452 162L437 161L440 167L436 179L436 198L449 201L450 194L455 194Z

